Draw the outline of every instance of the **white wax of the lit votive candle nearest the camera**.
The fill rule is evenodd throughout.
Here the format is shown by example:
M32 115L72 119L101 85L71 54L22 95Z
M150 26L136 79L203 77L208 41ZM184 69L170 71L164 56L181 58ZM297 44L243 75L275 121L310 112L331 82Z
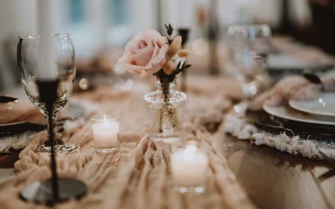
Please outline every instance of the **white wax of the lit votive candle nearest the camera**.
M177 185L198 186L205 182L208 158L196 146L188 146L185 150L171 156L171 172Z

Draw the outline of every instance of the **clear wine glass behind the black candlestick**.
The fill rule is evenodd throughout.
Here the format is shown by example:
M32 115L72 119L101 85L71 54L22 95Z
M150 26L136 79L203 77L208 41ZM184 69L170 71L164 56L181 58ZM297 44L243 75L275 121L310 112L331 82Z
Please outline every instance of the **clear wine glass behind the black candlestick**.
M20 70L21 82L25 93L34 106L44 114L47 120L48 136L44 143L39 147L41 152L51 151L51 141L49 139L49 130L52 129L55 136L54 149L55 152L71 151L76 148L76 145L63 142L57 132L56 116L58 112L66 105L70 95L72 94L73 82L76 74L74 62L74 48L69 33L51 34L51 40L55 42L54 53L56 57L57 78L59 85L57 89L57 100L53 104L52 117L49 118L46 109L46 104L41 101L37 79L39 77L39 64L41 54L39 50L40 35L20 35L17 42L17 64ZM52 121L52 126L49 125L49 120Z

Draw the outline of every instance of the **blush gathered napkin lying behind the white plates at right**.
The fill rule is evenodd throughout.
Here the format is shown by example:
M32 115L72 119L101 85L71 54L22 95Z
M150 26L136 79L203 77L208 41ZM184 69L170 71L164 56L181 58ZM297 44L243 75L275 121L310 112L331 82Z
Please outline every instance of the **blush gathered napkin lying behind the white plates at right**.
M322 78L321 84L311 83L303 76L289 76L253 99L248 107L251 110L260 110L264 103L277 106L287 104L290 99L314 99L321 91L333 91L334 89L335 78L330 75Z

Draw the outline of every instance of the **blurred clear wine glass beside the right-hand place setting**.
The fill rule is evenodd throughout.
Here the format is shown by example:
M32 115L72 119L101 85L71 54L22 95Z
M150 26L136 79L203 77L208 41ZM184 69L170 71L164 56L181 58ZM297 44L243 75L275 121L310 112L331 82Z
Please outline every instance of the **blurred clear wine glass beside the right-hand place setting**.
M271 29L268 25L234 25L228 28L228 44L238 70L236 76L243 81L245 97L235 106L237 112L244 112L248 99L257 93L257 86L266 70L270 42Z

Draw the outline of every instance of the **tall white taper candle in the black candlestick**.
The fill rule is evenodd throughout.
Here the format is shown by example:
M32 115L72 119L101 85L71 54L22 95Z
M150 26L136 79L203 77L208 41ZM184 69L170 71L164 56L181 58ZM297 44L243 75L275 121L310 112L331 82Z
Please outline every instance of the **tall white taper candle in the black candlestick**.
M57 78L55 62L55 40L51 36L54 31L54 0L38 1L38 27L40 35L40 61L38 78L54 80Z

